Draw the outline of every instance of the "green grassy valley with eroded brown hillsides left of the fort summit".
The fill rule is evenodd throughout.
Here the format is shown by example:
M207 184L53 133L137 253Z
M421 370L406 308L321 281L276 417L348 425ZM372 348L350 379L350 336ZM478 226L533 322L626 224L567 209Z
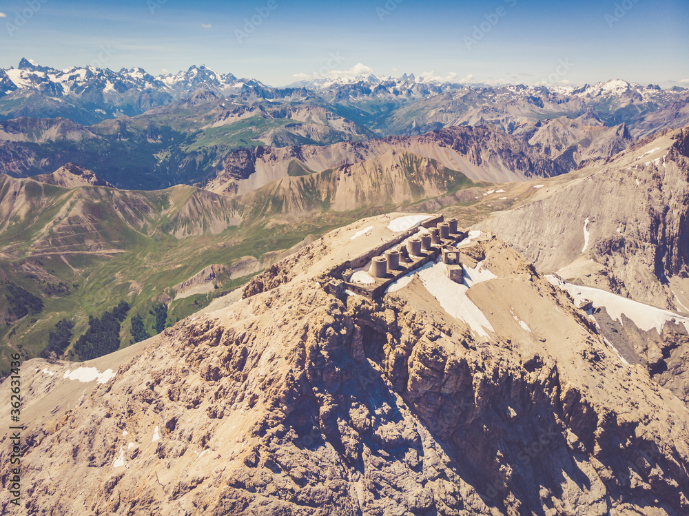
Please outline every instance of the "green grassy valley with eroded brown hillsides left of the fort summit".
M14 351L39 355L63 318L74 322L74 342L87 329L89 316L100 317L125 300L131 309L121 325L121 341L128 345L137 314L154 335L154 305L169 304L168 323L174 323L252 276L224 272L209 292L171 302L176 295L172 287L209 265L232 267L253 256L260 261L258 268L266 267L267 254L308 236L395 209L414 210L428 200L421 194L429 178L435 178L444 194L476 186L460 172L413 155L402 156L402 165L415 187L412 197L402 203L391 203L387 195L362 198L349 211L331 208L342 183L337 169L309 174L295 165L294 176L244 196L218 196L187 186L154 192L68 189L0 175L0 282L12 282L43 302L39 313L8 318L9 301L0 287L0 372L7 371ZM289 190L286 180L294 183ZM375 181L381 192L389 191L383 176Z

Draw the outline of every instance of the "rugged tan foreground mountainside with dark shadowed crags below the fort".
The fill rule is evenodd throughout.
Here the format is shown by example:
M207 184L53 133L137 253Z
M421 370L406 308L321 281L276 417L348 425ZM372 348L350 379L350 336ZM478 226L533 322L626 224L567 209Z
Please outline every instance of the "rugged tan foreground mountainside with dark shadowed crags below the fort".
M419 278L339 300L308 274L327 256L304 256L294 279L113 355L81 398L54 398L68 364L27 362L25 512L686 514L685 404L500 240L466 253L495 276L466 292L487 336Z

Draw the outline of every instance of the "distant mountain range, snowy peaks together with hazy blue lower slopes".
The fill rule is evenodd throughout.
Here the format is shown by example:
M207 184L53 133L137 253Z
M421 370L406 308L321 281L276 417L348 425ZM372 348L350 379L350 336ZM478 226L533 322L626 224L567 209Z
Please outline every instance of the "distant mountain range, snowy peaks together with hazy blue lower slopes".
M369 74L309 79L279 88L221 74L204 65L154 76L142 68L56 70L21 59L17 68L0 70L0 120L68 118L92 125L145 112L163 116L191 106L205 110L200 106L211 104L217 104L220 111L225 105L234 105L247 113L295 107L325 109L378 136L486 124L513 132L539 120L590 114L611 127L624 123L639 137L689 121L688 90L620 79L580 87L491 86L413 74ZM646 121L651 115L652 121Z

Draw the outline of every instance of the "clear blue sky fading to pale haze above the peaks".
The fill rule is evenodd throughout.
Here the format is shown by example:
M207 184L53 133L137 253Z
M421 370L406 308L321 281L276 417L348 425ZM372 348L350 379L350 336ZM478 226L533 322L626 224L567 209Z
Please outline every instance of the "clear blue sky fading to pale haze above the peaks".
M285 85L361 63L357 70L380 75L432 72L483 83L689 87L687 7L686 0L10 0L0 3L0 67L23 56L54 68L96 63L152 74L205 64Z

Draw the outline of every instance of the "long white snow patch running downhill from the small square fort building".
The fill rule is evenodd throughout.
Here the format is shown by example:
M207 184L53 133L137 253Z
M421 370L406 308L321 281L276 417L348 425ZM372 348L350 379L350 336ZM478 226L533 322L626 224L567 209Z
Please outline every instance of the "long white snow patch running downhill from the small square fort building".
M453 282L447 277L445 264L429 263L418 269L418 275L426 290L440 302L444 311L457 320L469 324L475 333L488 337L488 331L495 331L479 307L466 297L469 287Z

